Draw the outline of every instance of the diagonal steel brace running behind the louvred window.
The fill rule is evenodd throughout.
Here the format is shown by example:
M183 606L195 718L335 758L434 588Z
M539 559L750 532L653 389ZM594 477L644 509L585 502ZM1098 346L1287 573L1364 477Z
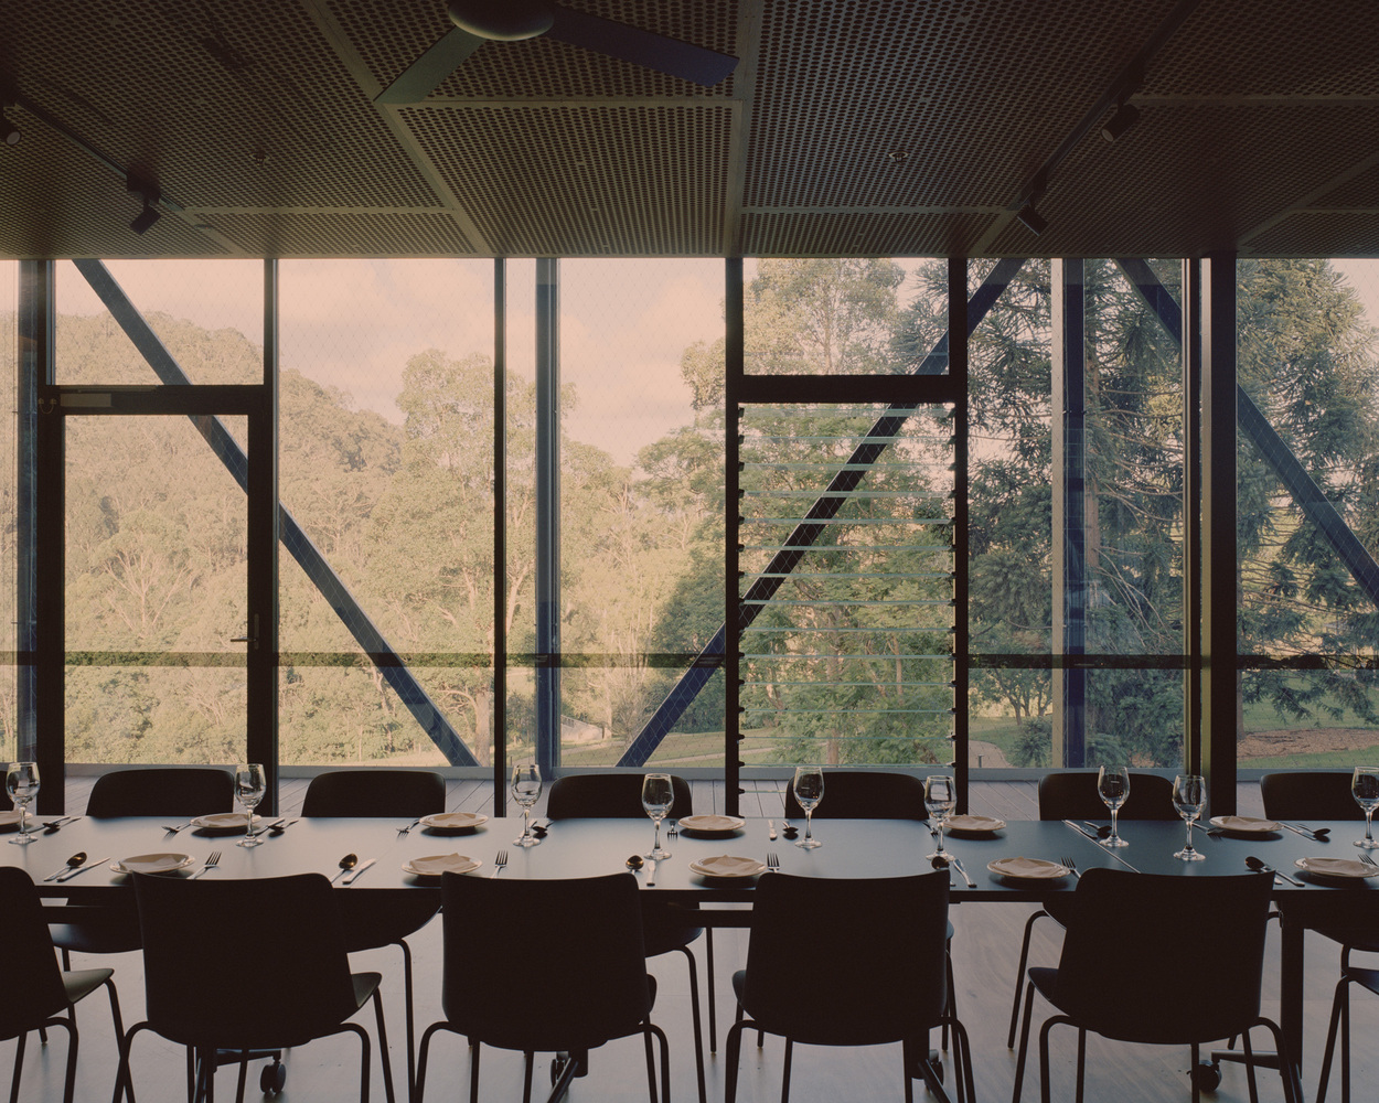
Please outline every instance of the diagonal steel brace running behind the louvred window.
M997 261L996 267L992 269L990 274L987 274L987 277L982 281L982 285L978 287L967 302L967 338L969 338L976 327L980 325L982 318L986 317L987 312L1001 296L1001 292L1009 285L1011 280L1015 279L1023 263L1025 258L1005 258ZM943 336L935 342L929 354L920 361L912 374L942 375L947 371L947 368L949 332L945 332ZM854 469L859 465L874 463L887 447L885 444L874 443L874 438L894 437L898 434L903 429L906 419L914 414L918 405L918 403L894 403L888 412L884 414L869 430L867 437L873 438L873 443L859 445L856 451L848 456L847 467ZM812 545L819 535L827 529L826 521L837 514L843 502L847 500L847 492L856 488L866 474L865 470L848 469L840 470L833 477L827 489L823 491L823 494L804 514L804 524L797 525L786 539L786 545L792 547ZM728 509L736 509L735 499L729 500ZM763 572L763 576L752 583L743 597L738 612L739 633L756 620L757 614L765 608L764 603L769 600L785 582L781 575L793 571L804 554L804 552L798 550L782 550L771 558L771 563ZM776 578L767 578L765 575L776 575ZM680 676L680 681L676 682L674 688L672 688L672 691L666 695L666 699L652 714L651 720L643 725L636 739L633 739L627 746L627 750L623 751L622 758L618 760L619 767L645 765L655 749L661 746L661 740L666 738L670 729L684 714L684 710L709 682L709 678L713 677L713 671L723 665L724 629L725 625L718 627L718 631L714 633L709 644L699 652L694 665ZM734 722L735 718L729 717L728 724Z

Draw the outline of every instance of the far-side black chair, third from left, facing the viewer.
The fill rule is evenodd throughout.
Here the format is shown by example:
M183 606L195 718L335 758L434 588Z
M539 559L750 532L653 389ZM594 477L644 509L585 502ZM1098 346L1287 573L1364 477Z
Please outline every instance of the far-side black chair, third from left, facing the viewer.
M546 797L546 818L558 819L645 819L641 807L641 773L572 773L557 778ZM694 815L690 783L670 775L674 794L670 811L674 819ZM709 1052L718 1048L717 1015L713 986L713 931L696 922L698 906L666 904L650 900L643 906L643 943L647 957L681 953L690 968L690 1012L694 1022L695 1073L699 1103L707 1103L703 1073L703 1027L699 1018L699 975L690 943L705 935L705 965L709 975Z

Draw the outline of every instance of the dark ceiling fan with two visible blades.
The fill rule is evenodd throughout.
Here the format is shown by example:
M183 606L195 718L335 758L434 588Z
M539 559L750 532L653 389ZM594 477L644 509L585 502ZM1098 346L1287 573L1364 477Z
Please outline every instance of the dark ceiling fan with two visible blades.
M520 41L546 34L656 73L712 87L738 59L651 30L589 15L549 0L450 0L454 30L414 61L375 103L418 103L485 41Z

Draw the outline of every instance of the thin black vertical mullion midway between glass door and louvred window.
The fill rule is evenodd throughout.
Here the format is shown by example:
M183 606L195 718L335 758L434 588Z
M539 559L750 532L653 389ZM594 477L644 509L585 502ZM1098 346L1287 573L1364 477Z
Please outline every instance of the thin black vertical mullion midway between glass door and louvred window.
M507 815L507 262L494 258L494 815Z

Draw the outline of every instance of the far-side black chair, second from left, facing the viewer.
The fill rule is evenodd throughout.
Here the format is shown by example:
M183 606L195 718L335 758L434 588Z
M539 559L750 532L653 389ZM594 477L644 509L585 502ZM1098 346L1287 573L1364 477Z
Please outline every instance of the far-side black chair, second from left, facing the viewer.
M375 816L414 820L445 811L445 779L416 769L335 769L319 773L306 786L303 816ZM399 824L403 826L403 824ZM345 950L360 953L382 946L403 951L403 1006L407 1030L407 1091L416 1078L416 1040L412 1020L412 950L407 936L430 922L440 904L432 893L376 900L367 893L339 893Z

